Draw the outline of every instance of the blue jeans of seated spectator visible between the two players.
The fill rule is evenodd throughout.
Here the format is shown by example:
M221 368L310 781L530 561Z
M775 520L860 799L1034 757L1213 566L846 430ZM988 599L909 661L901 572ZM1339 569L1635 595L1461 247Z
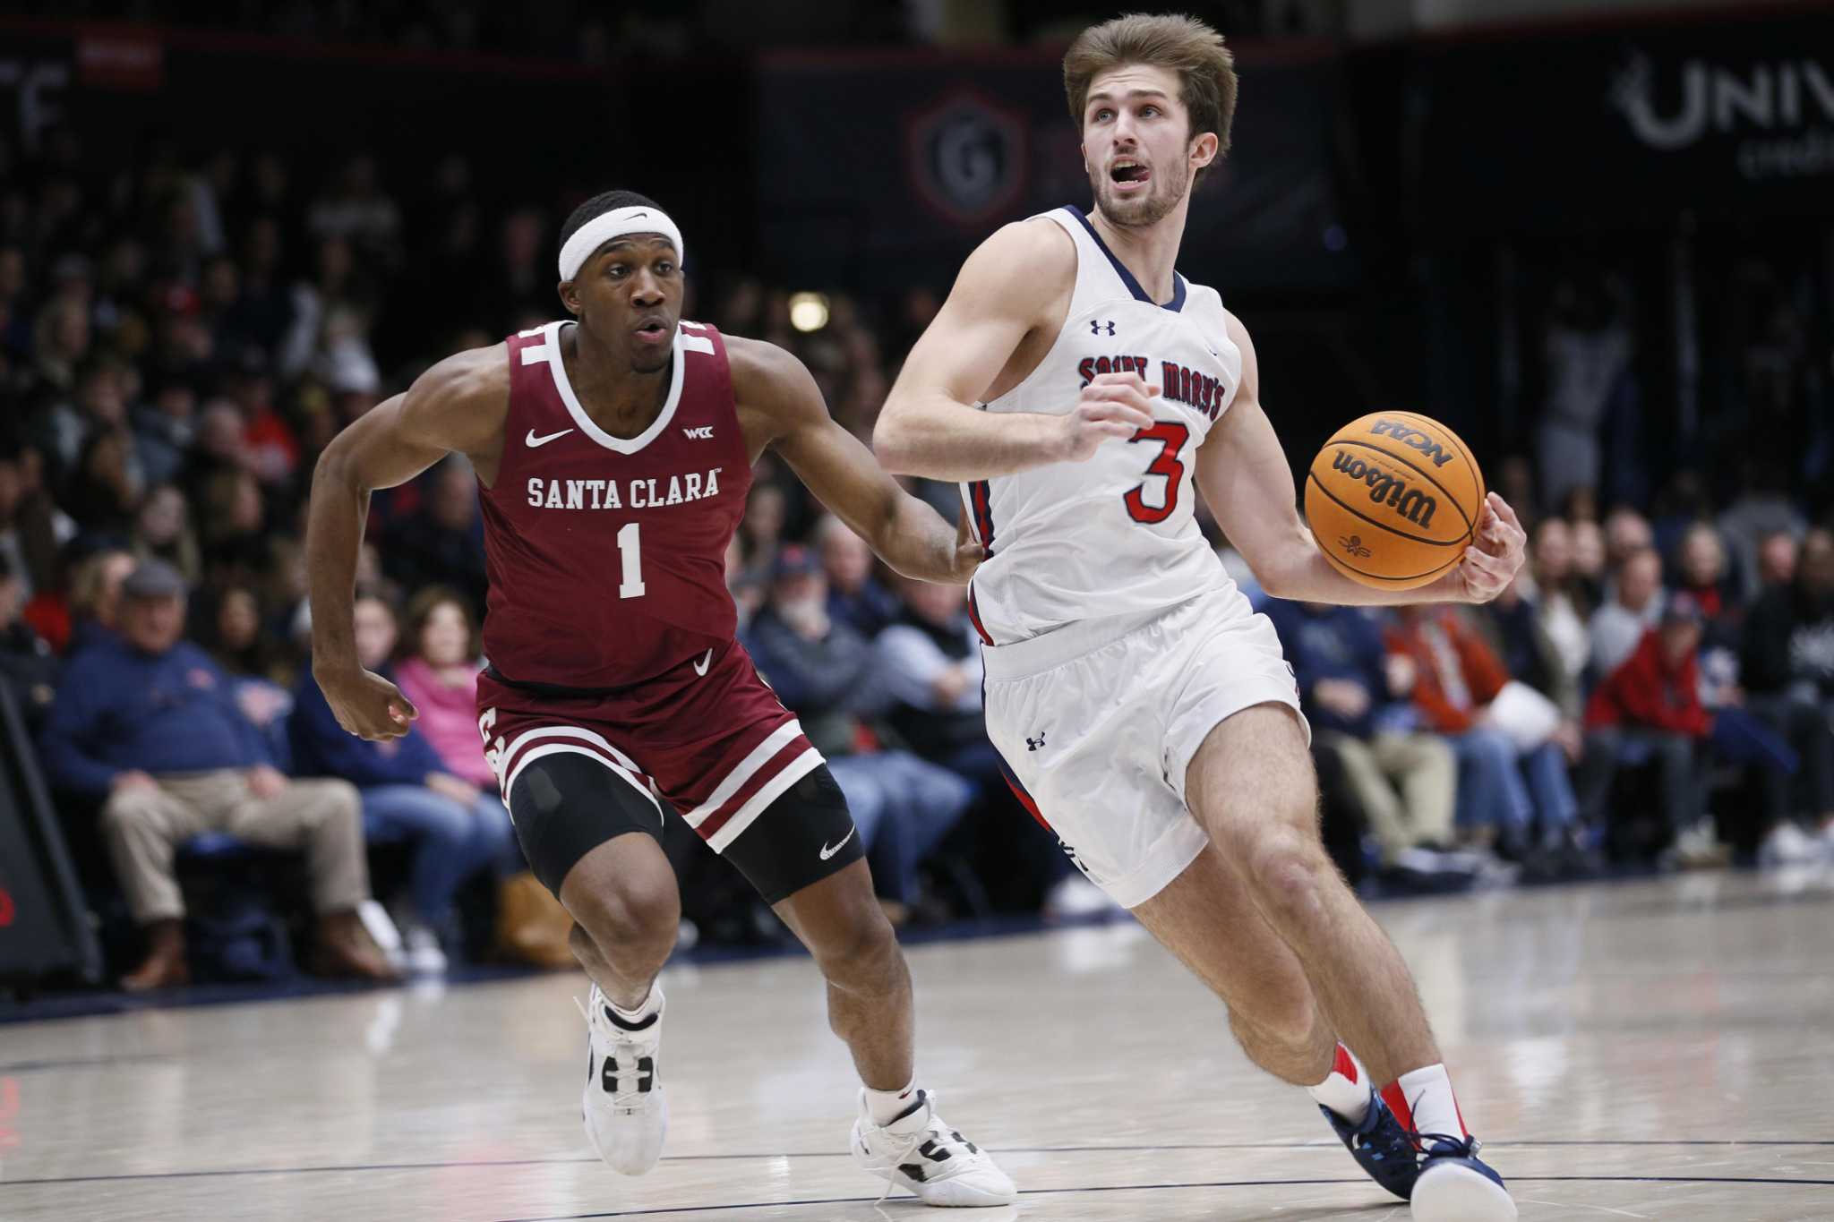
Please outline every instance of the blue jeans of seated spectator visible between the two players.
M956 826L974 786L910 751L844 755L827 762L860 828L873 885L886 900L917 898L917 867Z

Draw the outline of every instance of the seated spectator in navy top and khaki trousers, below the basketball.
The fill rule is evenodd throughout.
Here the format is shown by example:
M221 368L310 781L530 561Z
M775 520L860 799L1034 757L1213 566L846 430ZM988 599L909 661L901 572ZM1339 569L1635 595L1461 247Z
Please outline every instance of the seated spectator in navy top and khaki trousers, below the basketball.
M1385 658L1381 628L1357 606L1276 599L1267 617L1293 663L1313 740L1342 762L1383 865L1445 868L1436 850L1453 845L1458 762L1443 738L1416 733L1412 707L1396 700L1412 687L1412 663Z

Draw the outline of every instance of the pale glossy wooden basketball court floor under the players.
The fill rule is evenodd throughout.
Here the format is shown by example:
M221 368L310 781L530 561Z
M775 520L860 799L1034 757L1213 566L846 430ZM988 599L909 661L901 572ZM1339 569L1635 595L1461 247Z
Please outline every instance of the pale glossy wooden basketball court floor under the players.
M1522 1218L1834 1218L1834 878L1376 912ZM1407 1218L1132 922L911 966L923 1081L1023 1189L983 1222ZM807 960L666 980L673 1127L640 1180L580 1130L581 977L0 1026L0 1218L932 1217L845 1154Z

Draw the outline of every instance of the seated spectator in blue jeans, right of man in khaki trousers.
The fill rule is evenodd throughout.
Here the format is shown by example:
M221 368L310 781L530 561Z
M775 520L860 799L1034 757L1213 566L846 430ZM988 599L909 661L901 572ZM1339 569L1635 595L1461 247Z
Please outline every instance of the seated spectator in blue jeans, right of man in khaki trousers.
M400 636L394 608L374 595L359 597L354 623L358 661L389 676ZM387 742L347 733L310 669L299 678L293 702L295 771L358 786L372 841L413 841L407 903L394 905L403 966L422 975L444 971L440 940L453 920L453 896L471 874L508 854L514 830L503 801L495 788L486 791L453 775L418 729ZM475 718L471 727L475 735Z

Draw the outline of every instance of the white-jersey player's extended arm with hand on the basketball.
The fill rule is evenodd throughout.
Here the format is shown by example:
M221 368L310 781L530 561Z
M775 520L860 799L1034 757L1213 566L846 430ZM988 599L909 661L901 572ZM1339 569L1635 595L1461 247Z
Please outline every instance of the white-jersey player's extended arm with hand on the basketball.
M1247 328L1231 313L1229 337L1242 350L1242 385L1198 451L1198 489L1262 588L1300 603L1487 603L1522 568L1528 535L1515 509L1491 493L1465 559L1418 590L1372 590L1324 559L1298 518L1293 469L1260 405L1260 366Z

